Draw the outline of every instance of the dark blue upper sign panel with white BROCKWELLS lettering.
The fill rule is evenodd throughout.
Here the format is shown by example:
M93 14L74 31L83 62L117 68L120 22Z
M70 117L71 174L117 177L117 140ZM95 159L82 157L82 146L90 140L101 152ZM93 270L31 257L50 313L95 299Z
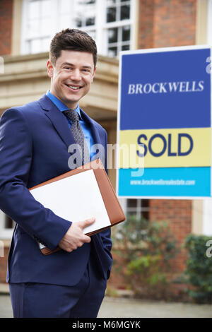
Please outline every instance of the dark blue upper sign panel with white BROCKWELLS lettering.
M120 129L211 126L211 50L122 55Z

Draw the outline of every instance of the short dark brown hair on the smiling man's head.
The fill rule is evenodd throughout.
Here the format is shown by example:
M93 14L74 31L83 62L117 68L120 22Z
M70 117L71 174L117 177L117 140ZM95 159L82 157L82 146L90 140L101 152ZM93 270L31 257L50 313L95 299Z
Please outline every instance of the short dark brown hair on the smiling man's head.
M93 54L94 67L97 63L97 47L87 32L78 29L65 29L54 35L50 44L49 57L52 64L55 64L60 57L62 50L72 50L78 52L89 52Z

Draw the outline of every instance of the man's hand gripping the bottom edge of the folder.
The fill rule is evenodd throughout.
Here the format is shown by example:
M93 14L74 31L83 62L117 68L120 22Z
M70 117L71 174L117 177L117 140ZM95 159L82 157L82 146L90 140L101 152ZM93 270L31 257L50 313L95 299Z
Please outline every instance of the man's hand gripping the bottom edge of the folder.
M90 242L90 237L83 234L83 229L95 222L95 218L72 223L69 230L59 242L59 247L65 251L71 252L78 247L82 247L84 243Z

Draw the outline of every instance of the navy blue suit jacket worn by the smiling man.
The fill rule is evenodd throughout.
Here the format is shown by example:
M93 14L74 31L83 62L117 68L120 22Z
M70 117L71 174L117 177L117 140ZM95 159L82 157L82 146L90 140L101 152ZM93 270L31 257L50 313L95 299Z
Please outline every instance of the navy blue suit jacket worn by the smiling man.
M95 143L105 147L105 129L81 110ZM93 235L89 244L67 253L44 256L35 239L55 249L71 225L35 201L28 190L69 172L68 147L75 143L66 117L44 95L40 100L7 109L0 120L0 208L16 222L8 256L10 283L76 285L90 254L98 273L109 278L112 264L110 230ZM71 202L70 202L71 208Z

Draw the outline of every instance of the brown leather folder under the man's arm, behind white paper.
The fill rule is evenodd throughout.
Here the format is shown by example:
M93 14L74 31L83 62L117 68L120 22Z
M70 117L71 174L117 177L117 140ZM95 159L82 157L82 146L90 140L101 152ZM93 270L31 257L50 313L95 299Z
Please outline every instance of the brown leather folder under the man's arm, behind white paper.
M121 223L122 221L124 221L126 219L124 212L122 210L122 207L120 206L118 198L114 192L110 179L107 176L107 173L105 172L105 168L102 165L102 162L100 159L93 160L92 162L89 162L86 165L78 167L75 170L71 170L69 172L59 175L59 177L54 177L53 179L50 179L46 182L37 184L37 186L33 186L33 188L30 188L29 190L35 189L40 186L45 186L46 184L58 181L60 179L64 179L66 177L72 177L75 174L78 174L80 172L86 172L88 170L93 170L93 172L95 174L95 179L97 180L97 183L98 183L98 186L100 189L100 193L102 195L102 200L105 203L107 215L110 219L110 224L111 224L110 226L100 228L100 229L95 230L90 233L86 233L86 235L92 236L98 232L101 232L102 230L105 230L109 227L117 225L118 223ZM47 248L47 247L41 247L40 250L42 251L42 254L48 255L48 254L52 254L55 251L60 250L60 248L58 247L54 251L50 251L49 248Z

